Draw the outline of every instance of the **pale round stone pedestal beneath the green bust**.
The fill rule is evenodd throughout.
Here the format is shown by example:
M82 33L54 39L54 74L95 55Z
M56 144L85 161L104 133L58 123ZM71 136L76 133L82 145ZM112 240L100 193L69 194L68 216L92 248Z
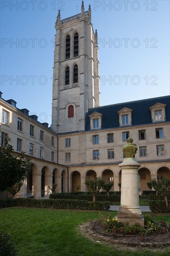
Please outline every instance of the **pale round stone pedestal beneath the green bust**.
M139 223L144 226L144 217L139 206L139 189L138 189L138 163L135 158L124 158L119 164L122 169L121 179L121 201L118 210L118 220L129 222L130 224Z

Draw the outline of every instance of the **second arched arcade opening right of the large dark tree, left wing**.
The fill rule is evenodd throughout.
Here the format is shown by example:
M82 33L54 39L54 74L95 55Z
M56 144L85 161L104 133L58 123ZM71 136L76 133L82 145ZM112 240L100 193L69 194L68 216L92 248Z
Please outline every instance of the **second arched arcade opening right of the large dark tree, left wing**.
M50 184L50 170L47 166L44 166L41 170L41 197L48 195Z

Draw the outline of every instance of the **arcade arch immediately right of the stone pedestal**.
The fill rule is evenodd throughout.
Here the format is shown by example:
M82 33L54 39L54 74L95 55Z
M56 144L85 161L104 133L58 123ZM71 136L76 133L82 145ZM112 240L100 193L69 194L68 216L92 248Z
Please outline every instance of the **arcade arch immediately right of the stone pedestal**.
M150 169L146 167L142 167L138 169L138 177L139 177L139 190L140 192L144 190L149 190L147 182L151 181Z

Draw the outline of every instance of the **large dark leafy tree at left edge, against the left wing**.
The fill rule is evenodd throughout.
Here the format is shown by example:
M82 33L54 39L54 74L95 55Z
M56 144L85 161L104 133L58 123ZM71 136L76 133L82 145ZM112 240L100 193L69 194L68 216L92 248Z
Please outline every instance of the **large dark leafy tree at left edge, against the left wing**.
M23 181L31 171L30 158L26 157L24 152L14 153L9 141L7 138L5 145L0 147L0 191Z

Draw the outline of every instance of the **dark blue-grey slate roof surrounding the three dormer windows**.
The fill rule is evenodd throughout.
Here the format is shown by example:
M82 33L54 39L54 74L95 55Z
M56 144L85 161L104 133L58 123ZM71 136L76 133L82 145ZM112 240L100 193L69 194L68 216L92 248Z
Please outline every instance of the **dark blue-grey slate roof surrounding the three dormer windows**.
M90 130L90 117L94 112L101 113L102 116L102 129L118 128L119 127L119 115L118 111L122 108L131 108L132 125L142 125L152 123L150 107L157 102L166 104L165 117L166 121L170 121L170 95L145 99L140 101L130 101L124 103L118 103L113 105L101 106L97 108L90 108L85 117L85 130Z

